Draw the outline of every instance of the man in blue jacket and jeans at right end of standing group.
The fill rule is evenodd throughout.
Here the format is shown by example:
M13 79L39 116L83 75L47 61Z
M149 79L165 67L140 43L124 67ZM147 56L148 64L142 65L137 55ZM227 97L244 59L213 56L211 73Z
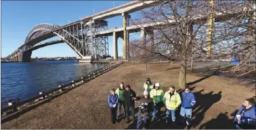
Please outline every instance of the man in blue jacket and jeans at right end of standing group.
M194 93L190 91L189 86L185 87L185 92L182 92L182 107L180 110L181 122L187 124L188 127L191 127L190 121L192 117L192 107L196 104L196 97ZM185 121L185 116L187 121Z

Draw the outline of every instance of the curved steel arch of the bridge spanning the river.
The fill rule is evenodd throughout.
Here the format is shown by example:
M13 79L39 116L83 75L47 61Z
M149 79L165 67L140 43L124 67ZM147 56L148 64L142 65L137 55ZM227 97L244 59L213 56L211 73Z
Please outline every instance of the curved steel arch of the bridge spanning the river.
M80 22L77 22L81 25ZM74 52L80 57L84 56L84 48L83 48L83 42L81 39L78 37L79 32L78 31L71 31L70 28L76 26L77 23L74 25L71 25L71 27L64 27L60 28L58 25L53 25L49 23L41 23L39 25L36 25L32 30L30 30L29 34L27 35L25 39L25 44L22 45L20 48L22 50L22 53L20 55L20 59L22 61L30 61L30 56L32 54L32 48L34 45L37 43L46 40L51 37L60 37L62 39L62 42L65 42L69 47L71 47ZM81 28L79 28L81 29ZM54 30L53 32L51 32ZM42 35L43 34L43 35ZM45 36L45 35L46 36ZM54 42L54 41L53 41ZM46 45L52 45L51 43L41 45L39 48L44 47Z

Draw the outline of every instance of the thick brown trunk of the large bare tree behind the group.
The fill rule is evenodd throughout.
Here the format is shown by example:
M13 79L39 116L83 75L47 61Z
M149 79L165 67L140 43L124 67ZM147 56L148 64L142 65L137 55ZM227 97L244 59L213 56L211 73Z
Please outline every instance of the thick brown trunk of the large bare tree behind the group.
M179 87L185 88L186 84L186 74L187 74L187 62L184 60L182 64L180 64L180 74L179 74Z

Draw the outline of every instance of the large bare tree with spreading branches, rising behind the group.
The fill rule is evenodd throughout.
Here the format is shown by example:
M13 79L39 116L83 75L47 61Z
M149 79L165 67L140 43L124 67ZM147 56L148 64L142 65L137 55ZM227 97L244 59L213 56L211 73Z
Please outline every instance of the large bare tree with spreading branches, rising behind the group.
M162 1L142 10L142 18L137 20L154 23L151 28L156 30L154 44L140 48L170 60L177 57L179 86L183 88L187 61L227 59L232 54L242 54L236 70L255 57L255 43L250 42L255 41L253 12L252 1ZM210 25L210 20L214 20L214 25ZM246 40L248 35L250 41Z

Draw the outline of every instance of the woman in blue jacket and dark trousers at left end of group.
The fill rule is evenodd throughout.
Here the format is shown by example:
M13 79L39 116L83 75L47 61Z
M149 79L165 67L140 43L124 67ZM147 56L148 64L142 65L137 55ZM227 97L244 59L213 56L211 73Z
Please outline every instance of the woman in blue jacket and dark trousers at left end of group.
M116 123L116 105L118 105L118 95L115 94L115 89L111 88L109 91L109 97L107 97L107 100L109 102L109 109L111 111L111 122L112 124Z

